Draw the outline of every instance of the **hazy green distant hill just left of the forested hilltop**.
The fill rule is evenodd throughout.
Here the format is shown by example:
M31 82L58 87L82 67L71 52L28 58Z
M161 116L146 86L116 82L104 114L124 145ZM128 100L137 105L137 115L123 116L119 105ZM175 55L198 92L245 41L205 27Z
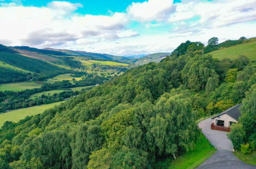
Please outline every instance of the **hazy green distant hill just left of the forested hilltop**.
M160 62L163 58L170 55L170 53L153 53L142 58L139 58L134 62L135 65L145 65L149 62Z

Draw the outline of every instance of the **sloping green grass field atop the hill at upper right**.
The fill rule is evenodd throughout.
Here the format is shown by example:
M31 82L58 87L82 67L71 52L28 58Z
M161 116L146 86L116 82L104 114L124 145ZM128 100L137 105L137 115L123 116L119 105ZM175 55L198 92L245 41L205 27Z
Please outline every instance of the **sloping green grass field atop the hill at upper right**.
M235 45L229 48L223 48L221 50L213 51L207 54L210 54L213 58L217 58L219 60L224 58L235 59L239 55L245 55L250 60L256 60L256 40L252 39L247 43Z

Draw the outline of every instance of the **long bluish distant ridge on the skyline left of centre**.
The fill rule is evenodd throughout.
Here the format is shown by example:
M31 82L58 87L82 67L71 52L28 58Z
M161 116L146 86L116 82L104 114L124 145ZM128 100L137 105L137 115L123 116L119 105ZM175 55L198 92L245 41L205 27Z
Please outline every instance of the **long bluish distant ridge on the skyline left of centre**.
M87 57L91 57L92 59L95 58L95 59L113 60L113 61L129 63L129 58L126 58L123 56L113 56L109 54L92 53L92 52L86 52L86 51L72 51L67 49L44 48L43 50L62 52L62 53L65 53L66 55L72 55L72 56L87 56Z

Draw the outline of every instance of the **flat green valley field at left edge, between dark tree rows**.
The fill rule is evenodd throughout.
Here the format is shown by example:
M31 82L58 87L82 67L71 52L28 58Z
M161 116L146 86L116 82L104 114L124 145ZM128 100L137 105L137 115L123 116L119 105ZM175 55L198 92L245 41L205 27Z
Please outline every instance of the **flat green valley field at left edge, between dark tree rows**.
M43 85L42 81L26 81L26 82L16 82L16 83L6 83L0 85L0 91L15 91L19 92L26 89L40 88Z

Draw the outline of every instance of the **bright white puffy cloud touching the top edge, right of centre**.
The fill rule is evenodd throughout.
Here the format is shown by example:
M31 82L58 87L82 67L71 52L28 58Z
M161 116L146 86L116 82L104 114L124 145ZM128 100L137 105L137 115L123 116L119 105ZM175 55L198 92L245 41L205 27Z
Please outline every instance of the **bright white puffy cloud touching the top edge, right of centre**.
M132 3L127 8L128 15L140 22L153 20L162 22L174 11L175 6L171 0L149 0L143 3Z

